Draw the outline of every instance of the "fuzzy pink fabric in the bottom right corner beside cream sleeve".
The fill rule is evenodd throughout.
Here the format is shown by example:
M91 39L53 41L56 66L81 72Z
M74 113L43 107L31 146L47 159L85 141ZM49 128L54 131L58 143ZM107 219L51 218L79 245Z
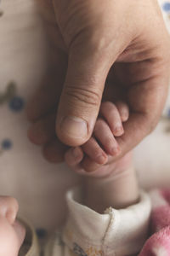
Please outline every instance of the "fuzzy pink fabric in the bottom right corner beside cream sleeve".
M170 189L156 190L154 208L151 213L150 231L152 236L145 242L139 256L170 255Z

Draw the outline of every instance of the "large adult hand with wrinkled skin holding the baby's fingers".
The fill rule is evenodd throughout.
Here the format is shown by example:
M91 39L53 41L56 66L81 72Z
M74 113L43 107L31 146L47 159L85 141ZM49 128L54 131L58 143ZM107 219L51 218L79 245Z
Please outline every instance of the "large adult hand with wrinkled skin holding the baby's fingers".
M125 154L153 130L167 96L170 41L157 1L37 1L53 42L56 80L29 104L31 140L37 143L37 130L43 134L39 144L52 140L48 113L55 106L59 140L70 146L87 142L108 77L119 92L116 100L130 108L124 135L117 138L120 156ZM48 155L57 147L48 143Z

